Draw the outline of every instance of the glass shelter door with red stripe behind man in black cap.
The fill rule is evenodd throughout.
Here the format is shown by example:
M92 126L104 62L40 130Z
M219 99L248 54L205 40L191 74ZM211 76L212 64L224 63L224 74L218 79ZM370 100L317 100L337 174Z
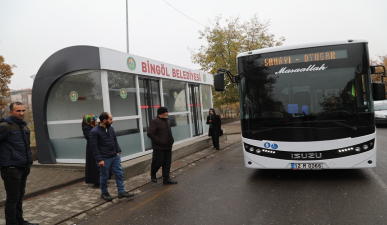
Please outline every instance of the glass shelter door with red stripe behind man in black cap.
M138 78L142 116L142 131L145 150L152 149L152 142L146 135L149 122L157 116L157 108L161 107L160 82L157 79Z

